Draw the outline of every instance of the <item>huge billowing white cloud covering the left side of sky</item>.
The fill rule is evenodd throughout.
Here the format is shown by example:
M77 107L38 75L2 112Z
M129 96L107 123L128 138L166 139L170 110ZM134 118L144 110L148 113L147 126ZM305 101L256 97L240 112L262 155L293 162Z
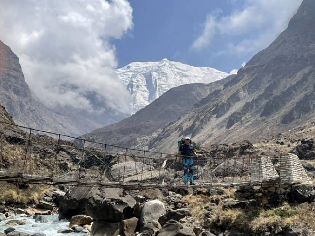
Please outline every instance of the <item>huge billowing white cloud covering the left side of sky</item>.
M19 56L35 96L51 107L128 111L110 40L132 27L126 0L0 2L0 39Z

